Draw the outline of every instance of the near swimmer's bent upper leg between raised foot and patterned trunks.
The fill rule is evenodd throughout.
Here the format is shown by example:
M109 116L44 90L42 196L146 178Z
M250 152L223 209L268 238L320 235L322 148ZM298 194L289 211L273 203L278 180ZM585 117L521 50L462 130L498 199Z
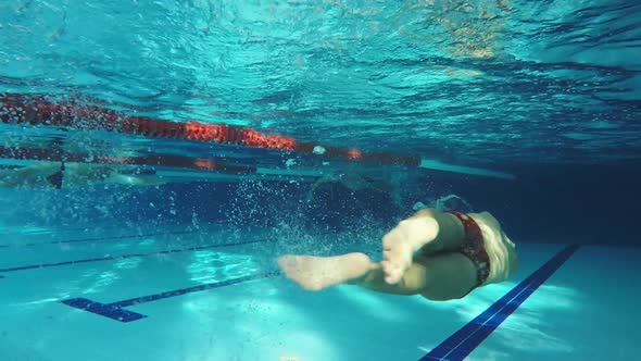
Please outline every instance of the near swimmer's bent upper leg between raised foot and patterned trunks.
M420 220L424 227L423 232L430 236L422 248L420 252L433 253L439 251L456 250L465 241L465 228L463 223L455 215L444 213L437 209L422 209L410 217Z

